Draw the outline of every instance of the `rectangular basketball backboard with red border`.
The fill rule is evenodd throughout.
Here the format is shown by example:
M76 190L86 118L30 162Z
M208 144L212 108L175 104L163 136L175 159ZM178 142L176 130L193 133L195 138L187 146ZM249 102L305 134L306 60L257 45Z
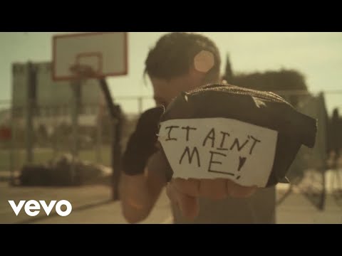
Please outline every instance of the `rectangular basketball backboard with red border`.
M53 36L53 80L75 79L75 66L91 68L91 78L127 75L127 33L95 32Z

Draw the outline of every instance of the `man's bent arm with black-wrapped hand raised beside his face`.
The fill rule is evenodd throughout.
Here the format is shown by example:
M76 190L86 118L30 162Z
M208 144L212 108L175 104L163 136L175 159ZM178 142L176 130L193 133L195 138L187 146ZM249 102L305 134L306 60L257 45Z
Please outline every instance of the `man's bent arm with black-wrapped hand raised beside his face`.
M156 107L140 116L123 155L119 193L123 215L129 223L147 218L166 184L162 169L149 165L157 154L157 124L163 111Z

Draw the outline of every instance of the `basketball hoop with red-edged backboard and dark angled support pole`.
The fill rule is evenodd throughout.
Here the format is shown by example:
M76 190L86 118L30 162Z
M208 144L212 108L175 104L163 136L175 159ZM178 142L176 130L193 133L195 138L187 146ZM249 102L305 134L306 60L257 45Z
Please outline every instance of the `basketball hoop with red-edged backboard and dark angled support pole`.
M70 80L73 89L73 138L78 136L78 107L81 104L81 84L87 78L99 79L101 90L113 119L111 155L114 200L119 198L122 118L120 111L113 104L108 84L103 78L128 74L127 37L127 32L76 33L53 36L53 80ZM73 156L78 154L76 139L73 139L72 152ZM71 172L75 174L74 165Z

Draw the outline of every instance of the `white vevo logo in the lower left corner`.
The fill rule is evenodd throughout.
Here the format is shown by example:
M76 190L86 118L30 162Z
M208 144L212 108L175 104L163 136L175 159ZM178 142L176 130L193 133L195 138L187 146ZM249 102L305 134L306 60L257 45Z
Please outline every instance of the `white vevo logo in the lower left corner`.
M26 203L25 202L26 201L21 200L18 206L16 206L16 203L14 203L14 201L9 200L9 204L11 205L11 208L13 209L14 213L16 213L17 216L20 213L21 208L23 208L25 204L25 207L24 207L25 213L31 217L39 214L41 210L41 206L43 207L43 210L45 210L46 215L49 215L51 213L53 206L55 206L57 201L52 200L49 203L49 205L47 205L45 201L40 200L39 203L41 203L41 206L36 200L29 200ZM66 206L66 210L61 210L61 206ZM71 203L69 203L68 201L61 200L61 201L58 201L58 203L56 204L55 210L58 215L65 217L71 213L71 210L73 210L73 206L71 206Z

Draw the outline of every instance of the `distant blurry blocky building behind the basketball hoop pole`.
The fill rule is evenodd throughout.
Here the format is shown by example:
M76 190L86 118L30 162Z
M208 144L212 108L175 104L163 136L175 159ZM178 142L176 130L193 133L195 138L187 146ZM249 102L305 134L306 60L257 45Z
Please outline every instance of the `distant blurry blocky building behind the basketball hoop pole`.
M30 75L31 72L31 75ZM32 75L33 74L33 75ZM33 82L30 80L33 79ZM33 87L30 85L33 84ZM12 110L16 123L24 124L29 93L33 100L33 127L44 124L71 123L71 102L73 91L70 81L54 81L52 65L42 63L12 64ZM81 86L81 106L79 123L95 125L99 106L104 105L104 97L97 80L86 80Z

